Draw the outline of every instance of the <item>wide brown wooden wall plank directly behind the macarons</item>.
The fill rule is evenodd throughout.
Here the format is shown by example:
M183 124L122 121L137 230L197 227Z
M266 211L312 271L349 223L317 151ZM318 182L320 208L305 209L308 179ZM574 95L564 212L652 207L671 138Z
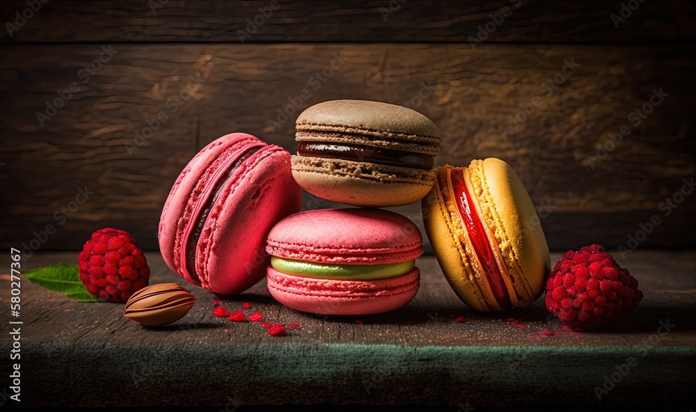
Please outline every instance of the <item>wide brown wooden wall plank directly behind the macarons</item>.
M111 58L100 45L13 47L1 58L2 247L40 241L52 224L42 248L79 248L113 225L154 250L167 193L198 148L242 131L294 151L297 114L338 98L425 113L443 134L436 164L509 161L546 216L553 249L626 245L653 215L660 224L637 235L640 247L696 245L696 202L678 194L696 173L693 47L110 47ZM100 54L107 62L86 81L81 70ZM65 106L49 111L73 82ZM641 108L650 113L632 114ZM37 113L54 116L42 127ZM514 117L526 120L515 128ZM615 144L610 134L622 127L630 134ZM93 192L84 204L81 191ZM420 220L418 204L397 211Z

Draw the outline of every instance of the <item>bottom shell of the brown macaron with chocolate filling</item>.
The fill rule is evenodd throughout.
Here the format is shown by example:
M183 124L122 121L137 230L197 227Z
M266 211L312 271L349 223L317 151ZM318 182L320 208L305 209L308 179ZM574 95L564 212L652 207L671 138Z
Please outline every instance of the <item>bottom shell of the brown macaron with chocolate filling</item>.
M434 183L434 171L342 159L292 156L292 176L322 199L361 207L418 202Z

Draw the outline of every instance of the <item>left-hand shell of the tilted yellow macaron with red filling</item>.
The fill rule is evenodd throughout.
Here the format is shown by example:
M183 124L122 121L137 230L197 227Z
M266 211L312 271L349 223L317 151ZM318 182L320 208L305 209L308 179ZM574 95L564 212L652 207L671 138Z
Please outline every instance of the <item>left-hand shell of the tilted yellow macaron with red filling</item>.
M490 312L492 309L462 250L462 247L466 246L458 244L455 240L458 236L457 230L461 231L461 227L455 227L456 224L450 221L450 214L437 184L422 199L421 206L425 232L450 287L470 308L479 312ZM490 299L493 299L492 296Z

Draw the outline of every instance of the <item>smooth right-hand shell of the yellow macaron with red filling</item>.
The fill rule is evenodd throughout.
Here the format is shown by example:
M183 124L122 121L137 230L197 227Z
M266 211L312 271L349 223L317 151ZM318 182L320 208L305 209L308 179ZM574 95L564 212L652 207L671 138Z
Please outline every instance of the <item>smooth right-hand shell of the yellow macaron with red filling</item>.
M519 280L528 285L530 299L534 301L544 291L546 276L551 271L548 244L537 220L537 210L524 184L507 162L488 158L484 159L482 167L484 193L490 197L507 237L507 244L501 244L500 249L521 268L523 278Z

